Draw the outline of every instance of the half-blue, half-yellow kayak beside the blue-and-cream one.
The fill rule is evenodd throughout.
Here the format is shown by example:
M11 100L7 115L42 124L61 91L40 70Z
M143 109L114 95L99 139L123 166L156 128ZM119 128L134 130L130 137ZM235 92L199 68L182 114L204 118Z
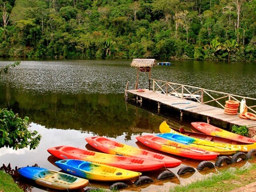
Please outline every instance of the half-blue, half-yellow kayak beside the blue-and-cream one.
M140 172L76 159L58 160L55 164L69 174L89 180L122 181L132 180L141 175Z

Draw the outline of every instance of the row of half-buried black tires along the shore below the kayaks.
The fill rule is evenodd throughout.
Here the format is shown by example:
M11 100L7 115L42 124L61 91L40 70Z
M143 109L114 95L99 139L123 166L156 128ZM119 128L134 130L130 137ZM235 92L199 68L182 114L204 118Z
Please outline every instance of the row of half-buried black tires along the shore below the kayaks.
M215 167L220 167L222 164L226 163L226 164L232 164L237 162L238 160L242 159L242 160L247 160L252 158L253 156L256 155L256 149L252 149L250 150L247 154L243 153L243 152L238 152L236 154L234 154L232 157L229 156L220 156L218 157L218 159L216 160L215 164L213 162L210 161L202 161L198 164L197 166L197 170L201 171L204 168L208 167L208 168L215 168ZM182 166L177 174L183 175L187 172L195 172L196 171L195 168L191 167L191 166ZM160 172L160 174L158 174L158 176L156 176L156 180L163 180L166 178L172 178L176 176L172 171L170 170L164 170L163 172ZM134 185L135 186L140 186L141 184L145 184L145 183L152 183L154 182L154 180L152 180L152 178L148 177L148 176L140 176L137 180L134 181ZM124 182L116 182L114 184L112 184L110 186L110 190L118 190L121 188L126 188L128 187L128 184L124 183ZM94 188L94 187L90 187L87 188L84 192L90 192L90 191L97 191L99 189Z

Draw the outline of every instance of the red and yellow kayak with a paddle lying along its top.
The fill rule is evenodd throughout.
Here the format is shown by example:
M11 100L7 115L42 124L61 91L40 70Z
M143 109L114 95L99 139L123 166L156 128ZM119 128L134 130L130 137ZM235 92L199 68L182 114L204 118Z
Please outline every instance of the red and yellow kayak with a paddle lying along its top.
M137 136L136 139L150 148L196 160L214 160L219 155L216 152L174 142L154 135Z

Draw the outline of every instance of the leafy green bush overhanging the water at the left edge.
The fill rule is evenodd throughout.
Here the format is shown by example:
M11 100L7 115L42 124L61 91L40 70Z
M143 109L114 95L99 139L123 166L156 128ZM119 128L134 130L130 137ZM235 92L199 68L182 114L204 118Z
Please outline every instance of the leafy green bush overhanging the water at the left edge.
M6 146L13 149L35 149L41 139L37 131L28 130L28 117L20 118L12 110L0 108L0 148Z

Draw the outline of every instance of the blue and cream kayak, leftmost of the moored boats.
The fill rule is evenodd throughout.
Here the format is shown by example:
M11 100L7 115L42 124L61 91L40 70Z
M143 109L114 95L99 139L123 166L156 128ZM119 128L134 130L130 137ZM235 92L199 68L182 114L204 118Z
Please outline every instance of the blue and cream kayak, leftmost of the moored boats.
M20 175L34 180L36 184L58 190L79 189L88 185L86 179L45 168L28 166L19 168L18 172Z

